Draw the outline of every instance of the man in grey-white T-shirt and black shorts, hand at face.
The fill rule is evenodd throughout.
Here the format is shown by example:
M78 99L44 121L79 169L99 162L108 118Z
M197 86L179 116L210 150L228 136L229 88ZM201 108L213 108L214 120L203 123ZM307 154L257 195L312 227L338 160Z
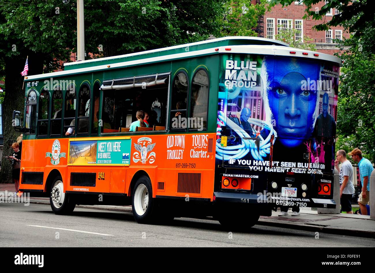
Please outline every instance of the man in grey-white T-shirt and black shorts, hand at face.
M339 162L342 163L341 169L339 168ZM336 153L335 168L340 173L340 203L341 210L346 213L353 214L351 207L351 198L353 197L354 185L353 185L353 166L350 161L347 160L347 153L344 150L338 150Z

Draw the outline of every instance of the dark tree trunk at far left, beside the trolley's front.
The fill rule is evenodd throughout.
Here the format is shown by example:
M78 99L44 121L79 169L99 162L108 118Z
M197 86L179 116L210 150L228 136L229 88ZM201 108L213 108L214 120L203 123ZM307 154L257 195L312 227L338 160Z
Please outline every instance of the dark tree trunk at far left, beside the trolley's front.
M13 128L12 114L13 110L23 112L25 94L22 90L23 77L20 72L23 71L26 58L24 57L5 57L5 97L3 102L3 133L4 147L3 156L12 155L13 150L10 147L13 142L17 141L20 135ZM12 164L9 160L1 161L0 183L9 183L12 181Z

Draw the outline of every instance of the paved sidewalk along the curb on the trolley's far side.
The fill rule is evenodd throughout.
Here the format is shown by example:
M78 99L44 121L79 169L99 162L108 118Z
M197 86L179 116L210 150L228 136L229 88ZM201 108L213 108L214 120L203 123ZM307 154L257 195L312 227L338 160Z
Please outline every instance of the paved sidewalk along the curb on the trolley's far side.
M4 192L5 190L8 190L8 192L14 191L14 185L0 184L0 192ZM31 197L30 203L49 205L49 198ZM77 205L76 207L126 213L133 212L131 206ZM288 216L279 217L279 211L272 211L272 216L261 216L258 225L375 238L375 219L370 219L369 215L345 213L318 214L318 212L314 210L301 210L300 213L299 216L291 216L290 211Z

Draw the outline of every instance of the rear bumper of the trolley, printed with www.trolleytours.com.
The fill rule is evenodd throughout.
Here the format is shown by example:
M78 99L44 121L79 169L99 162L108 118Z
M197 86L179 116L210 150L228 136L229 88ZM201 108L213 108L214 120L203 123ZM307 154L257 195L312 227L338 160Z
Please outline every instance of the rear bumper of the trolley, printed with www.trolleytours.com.
M241 192L214 192L214 202L231 202L231 203L246 203L246 204L267 204L271 207L279 207L283 200L271 199L264 195L257 195L251 193ZM289 207L297 205L299 207L314 207L314 208L336 208L336 202L333 199L323 198L291 198L287 197Z

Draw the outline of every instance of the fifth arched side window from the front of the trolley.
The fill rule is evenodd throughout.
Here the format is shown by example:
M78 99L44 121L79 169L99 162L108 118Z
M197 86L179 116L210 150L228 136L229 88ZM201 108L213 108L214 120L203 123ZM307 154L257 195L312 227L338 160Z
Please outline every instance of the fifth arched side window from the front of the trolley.
M88 134L90 123L90 88L88 86L81 87L78 101L78 134Z

